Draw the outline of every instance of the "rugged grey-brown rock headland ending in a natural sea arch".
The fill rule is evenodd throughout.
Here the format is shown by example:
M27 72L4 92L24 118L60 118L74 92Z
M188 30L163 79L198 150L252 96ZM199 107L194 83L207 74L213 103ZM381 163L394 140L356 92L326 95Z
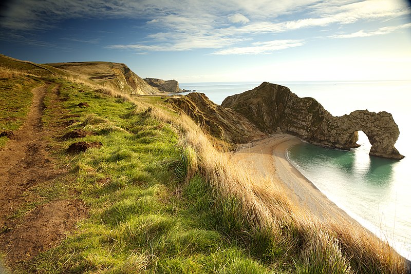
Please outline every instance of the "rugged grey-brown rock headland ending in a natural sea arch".
M371 144L370 155L404 158L394 147L400 131L393 116L385 111L353 111L332 116L312 98L300 98L287 87L263 83L253 90L227 97L222 107L244 115L261 131L287 132L323 146L349 150L358 147L362 130Z

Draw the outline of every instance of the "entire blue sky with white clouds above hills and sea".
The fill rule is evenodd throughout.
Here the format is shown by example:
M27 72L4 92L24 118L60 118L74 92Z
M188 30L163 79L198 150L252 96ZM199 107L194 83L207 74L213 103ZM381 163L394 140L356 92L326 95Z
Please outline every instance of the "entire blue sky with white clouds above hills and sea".
M0 53L195 82L411 80L405 0L12 0Z

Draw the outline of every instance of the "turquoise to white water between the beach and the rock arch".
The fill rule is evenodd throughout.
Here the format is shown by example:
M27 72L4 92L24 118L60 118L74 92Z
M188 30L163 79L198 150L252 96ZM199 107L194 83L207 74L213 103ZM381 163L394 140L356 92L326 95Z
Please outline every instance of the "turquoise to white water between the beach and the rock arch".
M403 179L409 171L397 161L369 156L368 151L302 143L289 148L287 156L328 199L409 257L411 184Z

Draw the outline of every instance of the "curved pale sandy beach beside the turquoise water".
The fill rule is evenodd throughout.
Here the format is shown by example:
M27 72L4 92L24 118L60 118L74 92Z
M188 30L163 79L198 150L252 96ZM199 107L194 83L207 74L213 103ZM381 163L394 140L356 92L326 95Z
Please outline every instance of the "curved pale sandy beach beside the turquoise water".
M321 221L343 220L354 226L364 228L369 233L376 236L369 228L354 219L344 209L328 199L308 178L301 173L287 158L287 149L303 141L296 136L284 133L276 133L266 139L251 142L242 146L235 152L237 161L258 163L255 166L256 172L263 177L269 176L273 182L278 183L290 194L290 200L297 206L312 213ZM270 155L268 155L270 153ZM240 155L240 156L239 156ZM272 164L267 163L272 161ZM378 238L378 236L376 236ZM383 241L383 239L379 238ZM391 243L392 244L392 243ZM392 246L390 244L390 246ZM398 251L397 251L398 252ZM401 255L411 269L409 258ZM410 270L408 270L409 273Z

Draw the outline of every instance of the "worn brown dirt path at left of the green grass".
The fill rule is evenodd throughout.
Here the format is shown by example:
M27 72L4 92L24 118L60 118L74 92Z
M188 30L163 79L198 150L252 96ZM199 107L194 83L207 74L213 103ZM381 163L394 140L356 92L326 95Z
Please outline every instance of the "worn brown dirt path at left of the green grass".
M47 89L44 85L32 90L27 120L0 150L0 250L7 253L9 265L54 246L85 215L79 201L58 200L36 207L22 219L9 218L25 203L41 200L32 188L48 185L67 172L52 163L46 149L41 118Z

